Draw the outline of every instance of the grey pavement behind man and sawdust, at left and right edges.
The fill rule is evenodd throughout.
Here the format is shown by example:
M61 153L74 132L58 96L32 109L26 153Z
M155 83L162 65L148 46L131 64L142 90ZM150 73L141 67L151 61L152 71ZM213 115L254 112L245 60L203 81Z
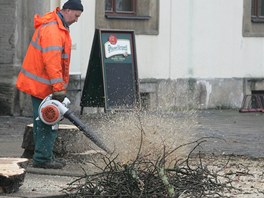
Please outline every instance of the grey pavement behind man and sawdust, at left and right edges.
M206 151L264 157L264 113L199 111L197 121L197 131L193 132L197 138L216 137L205 145ZM13 157L22 153L24 129L30 123L30 117L0 117L0 156Z

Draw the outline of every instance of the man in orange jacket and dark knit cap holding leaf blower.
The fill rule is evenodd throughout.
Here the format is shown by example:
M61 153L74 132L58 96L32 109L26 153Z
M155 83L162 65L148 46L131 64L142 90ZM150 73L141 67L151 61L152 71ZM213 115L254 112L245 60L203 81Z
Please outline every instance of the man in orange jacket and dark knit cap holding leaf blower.
M57 130L38 118L42 100L52 94L63 101L69 82L71 37L69 26L83 12L81 0L68 0L62 10L56 8L43 17L34 16L35 32L29 44L16 86L31 95L33 105L33 136L35 150L33 167L61 169L64 162L53 156Z

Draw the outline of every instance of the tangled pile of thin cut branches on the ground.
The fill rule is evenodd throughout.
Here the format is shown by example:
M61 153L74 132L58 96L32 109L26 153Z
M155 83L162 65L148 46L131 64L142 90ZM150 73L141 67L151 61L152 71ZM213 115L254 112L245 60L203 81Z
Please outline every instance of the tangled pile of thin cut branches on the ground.
M223 197L232 189L232 181L218 171L209 170L202 155L194 152L206 138L166 151L156 160L142 156L140 149L135 160L121 163L117 156L103 157L105 167L96 174L80 177L64 189L69 197ZM186 159L170 160L175 151L194 144ZM192 156L195 153L195 160ZM228 163L228 161L227 161Z

